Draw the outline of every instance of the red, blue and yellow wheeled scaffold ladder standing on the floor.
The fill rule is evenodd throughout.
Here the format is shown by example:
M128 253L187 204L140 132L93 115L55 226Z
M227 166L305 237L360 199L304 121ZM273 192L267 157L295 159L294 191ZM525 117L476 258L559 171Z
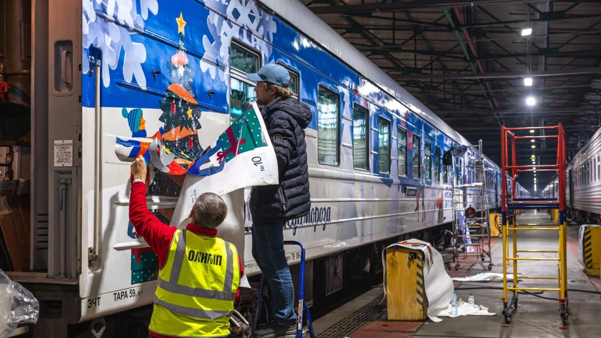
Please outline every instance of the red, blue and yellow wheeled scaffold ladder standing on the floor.
M557 135L534 135L526 131L550 131ZM518 135L522 134L522 135ZM552 165L518 165L516 156L516 140L525 139L527 141L538 138L557 138L557 162ZM529 146L531 143L528 142ZM509 151L511 150L511 164ZM501 162L502 177L507 177L502 184L502 242L503 242L503 316L504 324L508 326L511 323L511 315L517 309L518 291L523 291L531 295L545 298L547 300L558 301L559 313L561 318L560 328L567 328L567 267L566 267L566 135L561 126L551 127L533 127L533 128L505 128L501 126ZM559 194L557 198L519 198L516 191L516 179L519 173L536 171L554 171L559 176ZM510 186L508 186L510 183ZM558 209L557 224L519 224L516 221L517 210L528 209ZM552 231L559 233L559 243L557 250L519 250L517 241L517 232L523 231ZM511 248L510 248L511 238ZM532 253L551 253L557 254L557 257L526 257ZM557 262L557 277L552 276L526 276L518 272L519 262L524 261L554 261ZM513 286L507 283L507 269L512 266ZM518 277L519 276L519 277ZM520 287L520 280L557 280L558 287ZM542 297L532 291L558 292L558 298ZM511 293L511 301L508 301L508 293Z

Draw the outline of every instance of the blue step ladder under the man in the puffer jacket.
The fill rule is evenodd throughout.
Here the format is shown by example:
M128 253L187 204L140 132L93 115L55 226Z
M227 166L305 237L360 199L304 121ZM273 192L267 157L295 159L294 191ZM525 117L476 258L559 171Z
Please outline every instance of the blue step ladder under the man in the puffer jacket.
M284 241L284 245L298 245L301 247L301 267L299 271L299 301L297 307L297 319L296 319L296 336L295 338L302 338L304 336L303 327L307 325L308 333L311 338L315 338L315 333L313 331L313 321L311 321L311 314L309 312L309 307L307 303L305 303L305 247L301 244L301 242L297 241ZM259 314L261 309L261 303L263 301L263 289L265 286L265 277L261 275L261 283L259 284L259 294L257 297L257 307L255 309L255 318L252 322L252 332L257 329L257 323L259 320ZM269 322L269 321L268 321Z

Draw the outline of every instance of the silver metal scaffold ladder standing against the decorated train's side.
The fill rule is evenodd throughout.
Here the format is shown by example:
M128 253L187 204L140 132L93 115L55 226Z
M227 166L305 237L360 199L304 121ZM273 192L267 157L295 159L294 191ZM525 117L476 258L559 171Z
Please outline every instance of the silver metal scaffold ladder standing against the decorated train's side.
M478 152L475 156L469 153L462 158L453 156L455 269L459 269L460 263L480 264L483 269L492 269L482 140L478 141L476 147ZM463 177L458 177L457 173L463 173Z

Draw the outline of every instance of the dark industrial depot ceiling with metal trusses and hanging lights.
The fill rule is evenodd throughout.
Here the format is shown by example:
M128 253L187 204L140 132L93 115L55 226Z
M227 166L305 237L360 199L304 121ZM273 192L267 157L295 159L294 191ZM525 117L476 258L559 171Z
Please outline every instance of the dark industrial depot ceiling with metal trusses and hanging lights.
M568 159L601 126L601 1L302 2L499 165L501 124L563 123ZM523 144L520 164L554 164L556 147ZM552 176L538 173L538 192ZM534 174L518 180L534 188Z

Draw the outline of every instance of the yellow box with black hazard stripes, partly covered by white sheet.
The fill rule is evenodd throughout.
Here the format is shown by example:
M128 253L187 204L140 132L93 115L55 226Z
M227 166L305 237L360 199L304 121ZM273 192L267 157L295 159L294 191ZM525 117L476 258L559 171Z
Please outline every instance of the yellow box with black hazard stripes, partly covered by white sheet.
M424 253L403 247L386 249L388 320L423 321L428 300L424 288Z

